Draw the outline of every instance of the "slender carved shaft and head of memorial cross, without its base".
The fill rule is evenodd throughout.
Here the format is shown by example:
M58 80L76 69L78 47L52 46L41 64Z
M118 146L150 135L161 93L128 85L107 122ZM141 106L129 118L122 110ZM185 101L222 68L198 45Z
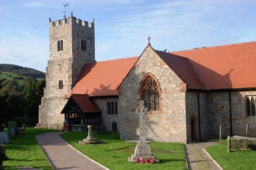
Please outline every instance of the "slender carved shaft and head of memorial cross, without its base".
M144 101L139 101L139 143L146 143L146 108L144 106Z

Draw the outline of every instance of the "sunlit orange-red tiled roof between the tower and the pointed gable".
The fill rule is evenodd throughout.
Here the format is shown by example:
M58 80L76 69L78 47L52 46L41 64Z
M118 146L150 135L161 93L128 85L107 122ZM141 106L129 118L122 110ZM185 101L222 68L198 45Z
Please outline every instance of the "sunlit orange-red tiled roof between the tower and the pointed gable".
M83 67L72 94L89 96L118 95L118 86L137 62L138 57L87 63ZM67 97L70 97L71 92Z

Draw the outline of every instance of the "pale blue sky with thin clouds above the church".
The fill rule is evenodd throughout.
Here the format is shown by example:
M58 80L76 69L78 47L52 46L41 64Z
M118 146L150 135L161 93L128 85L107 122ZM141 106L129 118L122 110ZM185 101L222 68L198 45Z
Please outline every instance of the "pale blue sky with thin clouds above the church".
M96 60L138 56L147 44L157 50L256 40L255 0L0 0L0 63L45 71L49 17L95 18Z

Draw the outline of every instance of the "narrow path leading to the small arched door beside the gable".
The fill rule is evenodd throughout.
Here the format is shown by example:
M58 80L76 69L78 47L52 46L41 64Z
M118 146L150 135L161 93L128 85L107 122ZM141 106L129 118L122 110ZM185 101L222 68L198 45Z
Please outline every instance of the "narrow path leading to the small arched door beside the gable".
M220 169L213 160L207 155L203 148L218 144L218 141L210 141L205 143L192 143L186 145L187 150L187 163L190 169L193 170L217 170Z

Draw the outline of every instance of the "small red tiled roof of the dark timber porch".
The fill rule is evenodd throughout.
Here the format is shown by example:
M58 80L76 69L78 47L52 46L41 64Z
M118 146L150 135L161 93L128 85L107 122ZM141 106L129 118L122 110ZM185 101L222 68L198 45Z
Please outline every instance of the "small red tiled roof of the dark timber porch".
M101 112L89 99L89 95L72 95L83 113Z

